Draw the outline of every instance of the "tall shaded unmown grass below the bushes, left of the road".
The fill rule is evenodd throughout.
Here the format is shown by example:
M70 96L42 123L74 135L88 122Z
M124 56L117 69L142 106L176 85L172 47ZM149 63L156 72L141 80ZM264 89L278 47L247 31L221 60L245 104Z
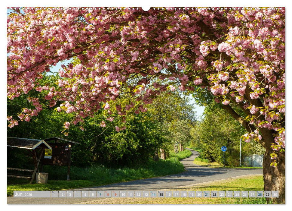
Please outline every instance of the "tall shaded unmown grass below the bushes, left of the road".
M177 174L184 171L181 162L175 159L159 160L154 162L149 160L148 164L137 168L109 168L104 165L95 165L91 167L72 166L70 171L71 180L98 180L105 184L130 181L134 179L157 177L169 174ZM66 166L44 166L44 172L49 173L50 180L66 180Z

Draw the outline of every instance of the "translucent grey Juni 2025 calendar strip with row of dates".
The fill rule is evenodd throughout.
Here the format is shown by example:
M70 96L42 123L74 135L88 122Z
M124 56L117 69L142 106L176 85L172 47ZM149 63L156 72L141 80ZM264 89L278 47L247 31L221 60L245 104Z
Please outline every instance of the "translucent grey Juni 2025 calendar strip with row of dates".
M13 191L17 198L278 198L279 191Z

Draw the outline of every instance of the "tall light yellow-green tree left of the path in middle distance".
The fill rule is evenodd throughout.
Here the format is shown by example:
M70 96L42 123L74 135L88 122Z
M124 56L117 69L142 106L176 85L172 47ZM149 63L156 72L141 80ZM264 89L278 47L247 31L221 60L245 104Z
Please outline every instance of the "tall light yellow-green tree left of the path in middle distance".
M166 152L174 150L175 143L186 144L190 140L189 131L197 121L194 106L190 104L187 96L178 92L161 93L152 104L147 105L146 117L160 128L160 133L165 137L161 143L161 159Z

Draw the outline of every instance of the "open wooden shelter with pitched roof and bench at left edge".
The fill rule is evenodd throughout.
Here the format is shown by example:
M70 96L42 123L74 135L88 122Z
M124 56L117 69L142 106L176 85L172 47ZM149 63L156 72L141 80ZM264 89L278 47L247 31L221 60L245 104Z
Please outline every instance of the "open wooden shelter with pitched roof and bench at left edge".
M7 173L8 177L30 179L30 184L32 184L32 182L35 178L35 173L39 172L38 165L39 165L39 162L41 161L41 156L42 156L43 152L45 151L45 149L51 150L52 147L48 143L46 143L44 140L29 139L29 138L15 138L15 137L7 137L7 146L26 149L32 153L33 162L34 162L34 166L35 166L34 170L7 167L8 171L32 173L31 176ZM40 149L39 153L37 153L37 149Z

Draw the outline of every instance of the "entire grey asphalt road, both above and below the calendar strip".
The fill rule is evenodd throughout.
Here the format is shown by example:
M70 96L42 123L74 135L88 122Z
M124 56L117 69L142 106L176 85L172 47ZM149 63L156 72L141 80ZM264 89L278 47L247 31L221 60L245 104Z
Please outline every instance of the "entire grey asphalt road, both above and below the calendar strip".
M190 150L190 149L189 149ZM192 155L181 160L185 166L182 173L163 177L154 177L129 182L120 182L110 185L86 187L72 189L78 191L114 191L114 190L163 190L172 189L180 186L198 184L202 182L226 179L241 175L263 174L263 169L258 168L211 168L193 164L198 152L191 150ZM84 201L97 200L98 198L14 198L7 197L8 204L67 204L80 203Z

